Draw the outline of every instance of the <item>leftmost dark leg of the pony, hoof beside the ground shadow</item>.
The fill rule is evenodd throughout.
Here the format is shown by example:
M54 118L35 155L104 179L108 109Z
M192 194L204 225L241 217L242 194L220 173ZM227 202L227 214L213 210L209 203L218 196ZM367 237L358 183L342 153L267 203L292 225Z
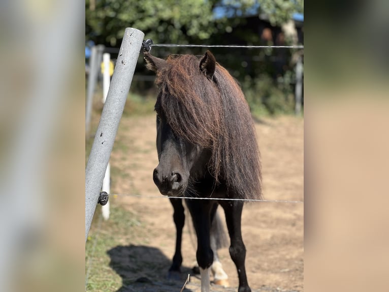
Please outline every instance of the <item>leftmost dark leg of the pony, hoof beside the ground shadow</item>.
M173 256L173 263L169 269L168 278L174 280L181 280L181 240L182 240L182 228L185 223L184 207L182 206L182 199L170 199L173 205L174 213L173 220L176 225L176 251Z

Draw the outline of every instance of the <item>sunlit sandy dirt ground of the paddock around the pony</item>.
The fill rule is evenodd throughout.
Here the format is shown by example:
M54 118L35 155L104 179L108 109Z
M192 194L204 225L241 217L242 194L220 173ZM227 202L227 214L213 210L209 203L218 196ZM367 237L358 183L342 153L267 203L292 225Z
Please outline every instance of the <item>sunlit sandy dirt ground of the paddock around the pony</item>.
M262 156L265 199L304 200L304 120L294 116L266 118L257 121L255 129ZM111 192L140 196L118 195L113 200L142 222L141 232L136 228L134 234L123 237L122 246L108 251L113 262L129 257L138 265L138 268L118 271L123 283L124 278L138 279L138 286L123 285L119 291L164 290L155 286L158 281L161 281L159 287L164 285L174 253L173 209L168 199L159 198L162 195L152 181L153 169L158 164L155 135L154 115L122 119L118 143L111 155ZM148 198L151 196L158 198ZM220 208L224 220L221 211ZM247 249L247 277L253 291L303 291L303 218L303 203L252 202L245 205L242 234ZM189 220L183 232L183 279L196 264L195 235ZM220 249L218 254L233 288L214 285L212 290L236 291L237 272L228 248ZM126 265L132 264L127 262ZM148 266L152 266L153 275L147 272ZM155 267L160 271L156 275ZM200 291L198 283L197 277L191 277L185 291Z

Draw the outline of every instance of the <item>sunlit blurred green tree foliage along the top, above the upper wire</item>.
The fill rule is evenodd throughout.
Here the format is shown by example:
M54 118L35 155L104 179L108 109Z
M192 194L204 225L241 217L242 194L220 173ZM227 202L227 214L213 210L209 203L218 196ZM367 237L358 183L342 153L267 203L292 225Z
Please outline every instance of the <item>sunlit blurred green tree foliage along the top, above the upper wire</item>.
M247 16L266 15L295 43L291 19L303 10L303 0L86 0L85 33L87 41L107 46L118 46L129 26L154 43L213 43L244 24ZM258 43L255 28L240 34L246 43Z

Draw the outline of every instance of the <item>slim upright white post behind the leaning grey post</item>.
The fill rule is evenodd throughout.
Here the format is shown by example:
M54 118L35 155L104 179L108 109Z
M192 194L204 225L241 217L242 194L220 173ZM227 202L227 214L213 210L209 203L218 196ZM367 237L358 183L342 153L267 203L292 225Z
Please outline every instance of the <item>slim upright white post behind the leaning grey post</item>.
M104 64L104 71L103 71L103 103L105 103L108 95L108 90L109 90L109 84L111 82L111 75L110 75L110 61L111 61L111 55L109 53L104 53L103 55L103 64ZM108 194L110 193L110 188L111 188L111 165L108 162L107 165L107 170L105 171L105 176L103 180L103 186L102 186L102 191L107 192ZM102 214L103 218L105 220L109 219L110 211L109 211L109 200L102 207Z

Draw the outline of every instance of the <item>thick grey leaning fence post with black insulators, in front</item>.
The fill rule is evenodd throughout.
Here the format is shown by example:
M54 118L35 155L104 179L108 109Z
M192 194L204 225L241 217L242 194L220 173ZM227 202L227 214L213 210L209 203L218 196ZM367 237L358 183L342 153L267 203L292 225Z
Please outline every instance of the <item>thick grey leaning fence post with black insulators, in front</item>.
M100 123L85 170L85 241L98 202L124 104L131 85L144 33L126 28Z

